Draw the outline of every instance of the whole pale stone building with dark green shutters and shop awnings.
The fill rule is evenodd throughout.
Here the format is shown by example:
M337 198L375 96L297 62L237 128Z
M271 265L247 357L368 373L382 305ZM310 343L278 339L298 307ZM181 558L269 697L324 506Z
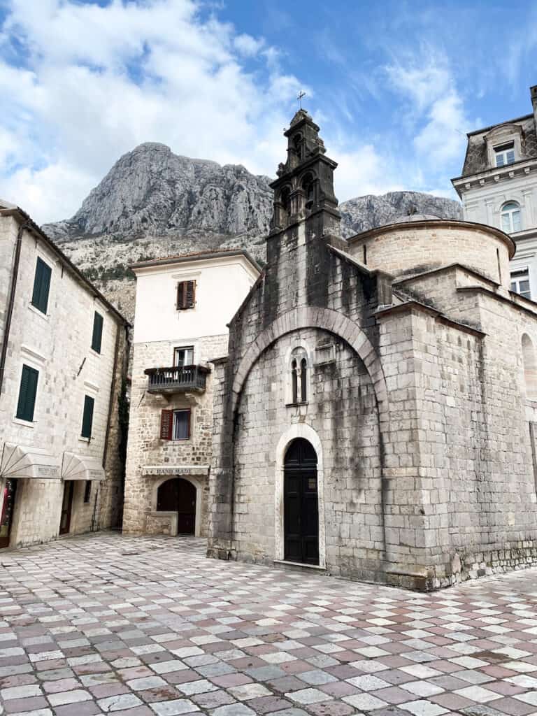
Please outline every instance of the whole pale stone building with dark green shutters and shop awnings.
M120 526L127 322L0 202L0 548Z

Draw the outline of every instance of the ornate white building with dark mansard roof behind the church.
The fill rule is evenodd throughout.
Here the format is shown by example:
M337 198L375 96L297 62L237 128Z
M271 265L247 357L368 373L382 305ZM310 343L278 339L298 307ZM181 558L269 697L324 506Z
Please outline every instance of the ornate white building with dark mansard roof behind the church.
M537 299L537 85L533 112L468 134L463 173L453 186L467 221L488 224L516 243L511 290Z

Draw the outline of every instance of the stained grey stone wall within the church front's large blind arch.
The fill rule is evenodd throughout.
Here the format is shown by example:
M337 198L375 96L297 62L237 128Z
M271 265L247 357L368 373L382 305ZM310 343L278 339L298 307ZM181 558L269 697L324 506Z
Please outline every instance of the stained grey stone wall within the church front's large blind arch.
M332 344L334 361L309 365L308 404L286 407L286 357L292 348ZM316 329L292 332L269 348L243 387L235 442L237 555L275 558L276 446L289 427L306 423L322 446L326 568L372 579L382 561L382 490L378 414L371 379L342 340Z

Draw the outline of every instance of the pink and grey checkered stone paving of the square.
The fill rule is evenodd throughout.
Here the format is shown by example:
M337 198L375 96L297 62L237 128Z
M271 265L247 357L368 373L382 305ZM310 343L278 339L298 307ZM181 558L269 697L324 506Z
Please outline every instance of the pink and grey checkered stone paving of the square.
M0 553L6 714L537 715L536 569L427 595L204 549L101 533Z

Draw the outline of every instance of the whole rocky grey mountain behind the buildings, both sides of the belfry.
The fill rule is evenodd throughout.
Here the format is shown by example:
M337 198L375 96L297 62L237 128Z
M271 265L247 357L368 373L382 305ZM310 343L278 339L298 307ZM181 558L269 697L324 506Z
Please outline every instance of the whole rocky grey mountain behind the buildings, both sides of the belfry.
M117 160L72 218L43 229L132 319L134 261L236 246L263 261L270 181L241 165L189 159L146 142ZM413 214L462 216L456 201L410 191L361 196L339 208L344 237Z

